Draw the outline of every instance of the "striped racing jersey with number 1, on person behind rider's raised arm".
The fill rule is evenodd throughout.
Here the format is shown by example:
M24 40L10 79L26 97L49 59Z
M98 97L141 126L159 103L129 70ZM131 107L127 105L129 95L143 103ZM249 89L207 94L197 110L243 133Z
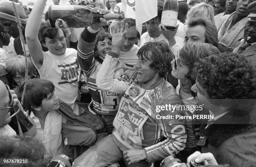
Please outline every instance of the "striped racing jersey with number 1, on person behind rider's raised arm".
M96 76L103 61L98 54L94 52L97 33L90 33L87 28L81 33L77 46L77 60L80 68L87 76L88 89L92 96L93 108L99 114L110 114L118 110L118 105L123 94L116 94L109 91L102 91L96 85ZM120 63L120 66L124 63ZM124 66L124 65L123 65ZM115 71L115 75L120 76L122 68ZM90 106L89 106L90 107ZM114 114L115 114L114 113Z

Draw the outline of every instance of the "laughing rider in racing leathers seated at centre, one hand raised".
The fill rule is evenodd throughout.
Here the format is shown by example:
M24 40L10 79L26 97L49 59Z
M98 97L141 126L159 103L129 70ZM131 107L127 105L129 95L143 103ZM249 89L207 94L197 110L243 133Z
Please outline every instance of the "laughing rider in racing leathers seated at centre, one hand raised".
M184 149L187 135L181 120L157 119L157 106L179 105L173 86L163 77L173 57L167 43L147 43L138 51L139 62L125 81L114 78L118 53L128 25L118 23L112 49L97 73L97 86L104 91L124 94L115 116L113 134L96 143L74 161L74 167L103 167L125 159L128 167L148 167L149 162L177 154ZM124 79L124 78L123 78ZM134 80L136 79L136 80ZM174 111L176 113L176 111ZM160 111L160 115L172 112ZM162 137L167 139L160 142Z

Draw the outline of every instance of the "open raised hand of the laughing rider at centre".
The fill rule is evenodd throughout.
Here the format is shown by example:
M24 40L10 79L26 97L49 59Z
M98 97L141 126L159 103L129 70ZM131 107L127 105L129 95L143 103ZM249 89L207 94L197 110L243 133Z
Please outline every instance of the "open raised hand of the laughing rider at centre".
M112 52L119 54L125 40L127 29L127 23L125 25L123 21L117 23L116 28L112 31Z

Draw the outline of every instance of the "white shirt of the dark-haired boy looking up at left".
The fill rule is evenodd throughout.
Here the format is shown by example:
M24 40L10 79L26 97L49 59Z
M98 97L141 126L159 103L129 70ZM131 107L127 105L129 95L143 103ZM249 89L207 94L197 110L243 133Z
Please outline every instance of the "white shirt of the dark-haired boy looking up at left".
M41 128L39 119L32 111L30 116L36 124L36 136L34 138L44 144L48 154L53 156L61 154L63 149L61 136L62 116L57 111L50 111L44 121L44 129Z

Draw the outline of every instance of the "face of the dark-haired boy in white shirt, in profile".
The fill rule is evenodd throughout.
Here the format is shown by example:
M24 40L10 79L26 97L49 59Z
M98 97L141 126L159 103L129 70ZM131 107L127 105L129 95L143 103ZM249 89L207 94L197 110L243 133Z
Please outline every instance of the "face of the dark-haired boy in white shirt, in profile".
M40 108L44 111L54 111L59 109L59 97L56 96L54 92L52 92L47 96L46 99L42 100Z

